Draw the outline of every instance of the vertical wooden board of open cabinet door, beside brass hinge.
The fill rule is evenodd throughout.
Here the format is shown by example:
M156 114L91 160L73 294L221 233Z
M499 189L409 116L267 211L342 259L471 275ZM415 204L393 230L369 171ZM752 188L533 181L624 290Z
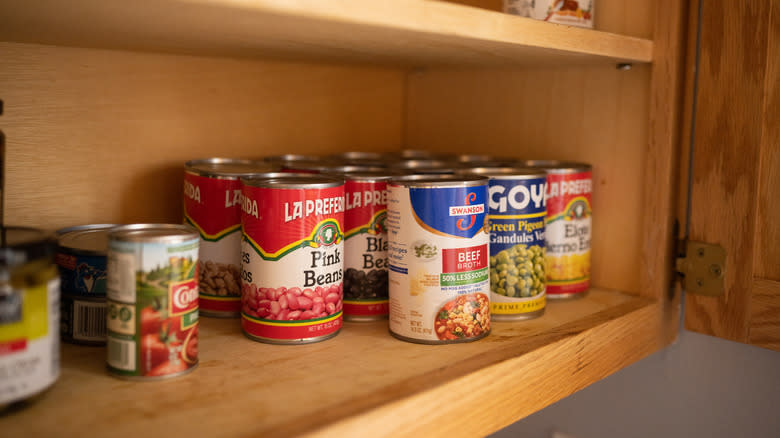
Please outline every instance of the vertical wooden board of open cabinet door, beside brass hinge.
M688 294L685 325L740 342L750 331L771 3L702 10L690 238L726 249L726 293Z

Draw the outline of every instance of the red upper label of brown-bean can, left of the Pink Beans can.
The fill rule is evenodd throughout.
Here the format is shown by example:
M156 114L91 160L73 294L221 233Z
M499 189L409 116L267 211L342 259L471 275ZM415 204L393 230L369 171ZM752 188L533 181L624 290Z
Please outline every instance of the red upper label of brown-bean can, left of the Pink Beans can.
M241 181L184 173L184 217L206 240L241 225Z

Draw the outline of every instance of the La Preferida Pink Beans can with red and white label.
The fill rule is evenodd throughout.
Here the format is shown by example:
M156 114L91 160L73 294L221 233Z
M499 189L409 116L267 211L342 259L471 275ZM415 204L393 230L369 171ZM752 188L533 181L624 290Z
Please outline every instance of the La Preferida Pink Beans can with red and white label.
M342 326L344 179L242 182L244 333L276 344L335 336Z

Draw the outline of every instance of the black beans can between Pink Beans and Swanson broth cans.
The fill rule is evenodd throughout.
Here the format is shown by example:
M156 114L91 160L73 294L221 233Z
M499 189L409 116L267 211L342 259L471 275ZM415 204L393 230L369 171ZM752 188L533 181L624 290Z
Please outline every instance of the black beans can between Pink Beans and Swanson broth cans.
M344 175L344 319L387 318L388 172Z

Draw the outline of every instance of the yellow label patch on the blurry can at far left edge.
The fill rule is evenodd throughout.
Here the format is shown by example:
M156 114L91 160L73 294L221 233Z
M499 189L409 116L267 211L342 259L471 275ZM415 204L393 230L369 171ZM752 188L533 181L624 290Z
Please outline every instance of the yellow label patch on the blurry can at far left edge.
M22 297L22 319L0 325L0 342L32 341L49 334L49 298L46 284L16 291Z

